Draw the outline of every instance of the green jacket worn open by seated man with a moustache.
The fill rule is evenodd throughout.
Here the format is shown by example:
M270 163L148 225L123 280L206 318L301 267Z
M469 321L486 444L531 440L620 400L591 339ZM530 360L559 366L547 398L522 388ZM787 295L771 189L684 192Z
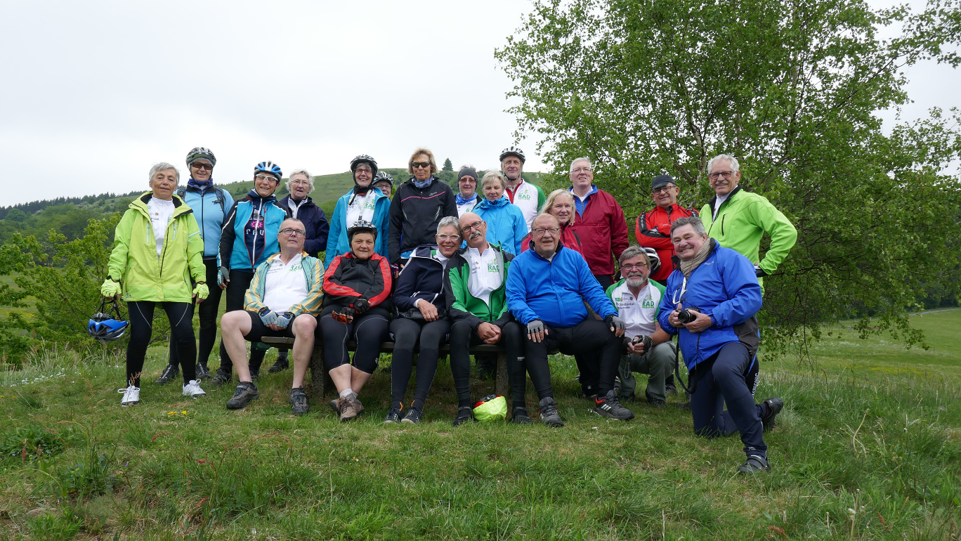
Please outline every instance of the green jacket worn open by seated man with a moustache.
M450 314L454 322L466 321L475 330L483 322L504 327L510 321L505 288L507 269L510 266L510 260L514 257L505 254L500 246L491 244L489 249L497 253L497 261L503 265L505 279L500 287L491 292L489 307L486 303L471 295L467 287L471 275L470 264L467 262L467 258L463 256L467 248L459 250L447 262L447 270L444 271L444 297L447 299L447 313Z

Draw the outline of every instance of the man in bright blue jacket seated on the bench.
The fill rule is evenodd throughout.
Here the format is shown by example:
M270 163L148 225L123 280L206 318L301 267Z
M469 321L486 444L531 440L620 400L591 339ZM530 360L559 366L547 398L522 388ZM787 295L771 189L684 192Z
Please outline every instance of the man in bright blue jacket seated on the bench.
M592 354L600 358L595 413L627 421L634 414L618 402L614 377L621 360L625 323L576 251L560 243L560 224L551 214L539 214L530 223L531 250L514 258L507 274L507 308L527 326L525 362L540 398L541 421L561 427L557 414L548 352ZM588 317L581 300L604 321ZM598 353L600 355L598 356ZM545 384L546 383L546 384Z

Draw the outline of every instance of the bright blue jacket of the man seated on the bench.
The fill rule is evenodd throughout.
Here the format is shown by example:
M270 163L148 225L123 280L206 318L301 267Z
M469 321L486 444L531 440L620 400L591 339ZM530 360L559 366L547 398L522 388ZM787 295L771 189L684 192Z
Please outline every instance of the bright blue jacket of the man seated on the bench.
M524 325L539 319L551 327L574 327L587 318L584 301L601 317L617 314L578 252L560 246L548 261L530 249L511 261L507 308Z

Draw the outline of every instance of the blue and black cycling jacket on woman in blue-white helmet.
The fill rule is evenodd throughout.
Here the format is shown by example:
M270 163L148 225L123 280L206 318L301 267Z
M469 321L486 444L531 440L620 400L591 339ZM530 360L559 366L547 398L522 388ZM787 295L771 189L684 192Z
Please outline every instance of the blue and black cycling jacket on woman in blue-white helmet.
M260 197L255 190L234 203L220 232L220 265L233 270L254 272L257 265L281 251L277 234L281 231L287 211L271 195ZM263 220L263 234L259 229L246 231L252 218Z

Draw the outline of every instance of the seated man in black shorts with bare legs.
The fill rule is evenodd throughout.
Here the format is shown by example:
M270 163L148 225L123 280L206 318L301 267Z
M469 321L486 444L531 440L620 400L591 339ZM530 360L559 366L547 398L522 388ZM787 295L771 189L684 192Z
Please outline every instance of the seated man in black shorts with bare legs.
M277 240L280 254L263 261L244 297L244 309L229 311L220 319L220 335L227 354L234 363L240 384L228 409L247 406L259 396L247 365L244 340L259 342L263 336L286 336L294 339L294 381L290 404L295 415L308 412L304 377L313 351L314 317L320 313L324 278L320 260L304 252L304 224L287 218L281 224Z

